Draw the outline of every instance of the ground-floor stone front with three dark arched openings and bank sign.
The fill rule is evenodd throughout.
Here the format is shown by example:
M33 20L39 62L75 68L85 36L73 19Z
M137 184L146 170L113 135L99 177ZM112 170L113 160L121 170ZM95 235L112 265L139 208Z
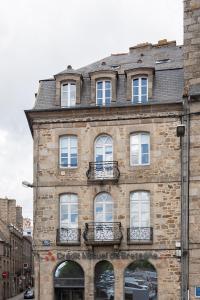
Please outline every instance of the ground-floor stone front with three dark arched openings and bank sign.
M38 300L179 300L180 260L173 251L41 251Z

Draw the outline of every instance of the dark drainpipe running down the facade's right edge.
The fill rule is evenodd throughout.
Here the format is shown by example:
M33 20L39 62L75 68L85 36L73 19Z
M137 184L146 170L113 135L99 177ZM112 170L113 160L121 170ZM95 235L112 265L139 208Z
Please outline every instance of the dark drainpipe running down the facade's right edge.
M181 136L181 300L189 300L189 147L190 115L189 98L183 102L182 124L185 134Z

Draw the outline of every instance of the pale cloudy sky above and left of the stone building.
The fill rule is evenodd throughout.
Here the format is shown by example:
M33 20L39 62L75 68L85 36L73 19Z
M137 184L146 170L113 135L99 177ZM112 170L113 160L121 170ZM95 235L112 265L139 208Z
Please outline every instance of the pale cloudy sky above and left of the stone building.
M0 2L0 198L32 218L33 141L24 110L38 81L161 39L183 43L182 0Z

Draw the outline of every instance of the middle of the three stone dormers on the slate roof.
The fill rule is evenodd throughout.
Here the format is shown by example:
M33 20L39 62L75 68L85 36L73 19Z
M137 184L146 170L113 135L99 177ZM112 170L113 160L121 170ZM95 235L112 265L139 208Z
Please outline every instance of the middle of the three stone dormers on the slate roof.
M89 73L91 78L91 99L97 106L109 106L117 99L117 72L100 70Z

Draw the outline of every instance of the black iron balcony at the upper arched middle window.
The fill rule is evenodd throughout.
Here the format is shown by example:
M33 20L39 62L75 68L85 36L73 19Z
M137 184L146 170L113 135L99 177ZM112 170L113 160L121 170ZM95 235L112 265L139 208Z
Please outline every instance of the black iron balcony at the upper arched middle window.
M118 181L120 172L117 161L90 162L86 173L88 181Z

